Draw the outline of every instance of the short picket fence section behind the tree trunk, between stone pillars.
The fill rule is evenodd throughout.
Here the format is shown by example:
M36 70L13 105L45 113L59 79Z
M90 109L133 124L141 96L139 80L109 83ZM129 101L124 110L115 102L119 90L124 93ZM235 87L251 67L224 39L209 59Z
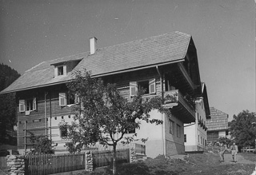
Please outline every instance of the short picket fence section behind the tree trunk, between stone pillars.
M93 151L94 168L112 165L113 151ZM130 149L118 149L117 150L117 162L128 163L130 162Z

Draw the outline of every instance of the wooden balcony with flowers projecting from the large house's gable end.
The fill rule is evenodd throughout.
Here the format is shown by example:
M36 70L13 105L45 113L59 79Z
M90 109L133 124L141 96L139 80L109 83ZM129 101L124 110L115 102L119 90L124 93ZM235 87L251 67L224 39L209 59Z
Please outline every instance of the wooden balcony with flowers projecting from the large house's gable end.
M165 107L170 108L171 113L184 123L195 121L194 105L178 91L178 89L166 91Z

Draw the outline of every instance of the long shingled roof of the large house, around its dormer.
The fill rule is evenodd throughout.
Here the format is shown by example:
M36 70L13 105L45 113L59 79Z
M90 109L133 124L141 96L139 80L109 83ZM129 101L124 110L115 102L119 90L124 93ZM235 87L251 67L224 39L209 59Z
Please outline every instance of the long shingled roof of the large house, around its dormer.
M59 62L82 59L73 71L86 68L86 70L92 72L94 77L118 74L126 70L146 69L150 66L175 62L186 57L190 41L193 43L190 34L176 31L116 46L104 47L98 49L93 55L85 52L42 62L30 70L26 70L25 74L2 90L1 93L68 82L72 78L72 72L66 76L54 78L54 65Z

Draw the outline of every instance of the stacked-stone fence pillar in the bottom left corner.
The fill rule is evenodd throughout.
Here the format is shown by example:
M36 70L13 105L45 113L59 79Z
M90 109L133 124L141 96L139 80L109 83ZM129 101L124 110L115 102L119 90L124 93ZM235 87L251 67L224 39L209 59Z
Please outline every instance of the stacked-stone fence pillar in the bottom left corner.
M10 174L25 174L25 157L22 155L7 156L7 166L10 166Z

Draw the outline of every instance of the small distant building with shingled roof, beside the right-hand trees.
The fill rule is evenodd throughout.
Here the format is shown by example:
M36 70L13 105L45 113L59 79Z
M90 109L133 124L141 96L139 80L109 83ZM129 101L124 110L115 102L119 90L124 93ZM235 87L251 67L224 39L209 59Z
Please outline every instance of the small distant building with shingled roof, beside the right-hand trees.
M217 141L219 137L228 135L229 115L222 111L210 107L210 118L206 120L208 142Z

